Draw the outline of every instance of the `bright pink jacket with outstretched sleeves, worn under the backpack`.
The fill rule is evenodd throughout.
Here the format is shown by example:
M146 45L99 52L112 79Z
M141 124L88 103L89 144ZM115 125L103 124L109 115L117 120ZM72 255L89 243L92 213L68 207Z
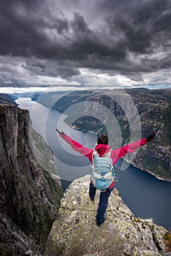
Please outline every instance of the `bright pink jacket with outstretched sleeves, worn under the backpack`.
M83 156L87 157L91 163L92 163L92 154L94 149L86 148L85 146L81 145L75 140L72 140L68 135L59 135L61 138L63 138L66 143L68 143L72 148L82 154ZM118 158L125 156L127 153L132 153L136 151L141 146L144 146L148 143L148 140L146 138L143 138L141 140L137 140L136 142L130 143L126 146L122 146L118 149L113 149L111 151L110 157L113 159L113 165L115 165L115 162L117 162ZM109 152L111 149L110 146L105 144L98 144L95 148L95 150L98 152L99 156L102 157L104 153Z

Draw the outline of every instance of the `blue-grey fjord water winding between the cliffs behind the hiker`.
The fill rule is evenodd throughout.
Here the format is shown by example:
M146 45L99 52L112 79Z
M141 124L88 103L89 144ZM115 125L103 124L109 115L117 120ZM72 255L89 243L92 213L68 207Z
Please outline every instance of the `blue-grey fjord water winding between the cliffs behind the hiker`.
M56 110L45 108L29 98L19 98L16 102L20 108L29 110L32 127L52 148L58 175L63 180L73 181L89 173L88 159L80 156L64 140L58 138L56 127L88 148L94 148L96 135L68 127L64 123L64 115ZM116 164L118 182L115 183L115 188L121 193L124 203L135 216L143 219L152 218L156 224L169 230L171 228L171 183L161 181L132 165L128 165L129 167L122 171L119 167L122 162L123 160L120 159Z

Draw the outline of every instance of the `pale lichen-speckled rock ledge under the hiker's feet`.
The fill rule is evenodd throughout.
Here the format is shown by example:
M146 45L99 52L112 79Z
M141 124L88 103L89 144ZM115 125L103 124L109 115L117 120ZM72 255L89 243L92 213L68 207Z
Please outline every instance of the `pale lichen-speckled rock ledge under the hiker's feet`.
M163 240L168 231L151 219L134 217L117 189L110 195L106 221L96 227L99 192L92 202L89 178L78 178L66 189L47 241L46 256L171 255Z

